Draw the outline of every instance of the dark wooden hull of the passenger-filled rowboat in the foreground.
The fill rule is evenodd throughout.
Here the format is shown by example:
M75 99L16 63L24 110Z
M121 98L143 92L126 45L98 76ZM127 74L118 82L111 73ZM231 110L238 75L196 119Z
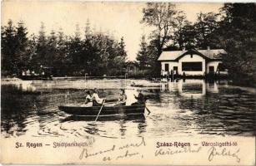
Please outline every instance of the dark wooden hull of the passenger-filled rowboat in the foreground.
M73 105L61 105L58 106L59 110L62 110L70 115L82 115L82 116L97 116L100 106L73 106ZM112 115L143 115L145 105L118 105L118 106L103 106L99 116L112 116Z

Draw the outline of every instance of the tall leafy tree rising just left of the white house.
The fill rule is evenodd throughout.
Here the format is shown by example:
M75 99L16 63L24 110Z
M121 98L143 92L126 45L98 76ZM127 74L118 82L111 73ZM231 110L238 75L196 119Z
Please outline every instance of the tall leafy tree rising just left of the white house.
M155 76L160 74L157 60L163 46L166 46L172 37L177 13L175 5L170 2L148 2L147 7L143 8L142 23L154 28L149 37L148 59L152 66L152 74Z

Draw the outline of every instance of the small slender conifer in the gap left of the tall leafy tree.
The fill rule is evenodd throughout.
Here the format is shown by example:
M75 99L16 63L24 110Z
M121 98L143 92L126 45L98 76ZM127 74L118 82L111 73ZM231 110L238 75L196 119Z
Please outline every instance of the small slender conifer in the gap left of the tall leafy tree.
M148 51L145 35L141 37L140 50L138 51L136 60L138 61L140 69L144 70L148 65Z

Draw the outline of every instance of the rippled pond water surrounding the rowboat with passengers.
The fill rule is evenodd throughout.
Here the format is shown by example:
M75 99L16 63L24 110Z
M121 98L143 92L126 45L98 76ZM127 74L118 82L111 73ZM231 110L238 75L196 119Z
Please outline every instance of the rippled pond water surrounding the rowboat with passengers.
M193 135L255 135L255 90L202 80L161 83L144 87L151 114L100 117L67 115L58 105L83 103L86 88L99 88L99 95L118 98L125 87L128 104L136 90L132 81L62 80L2 83L1 130L5 137L158 138ZM156 85L150 81L136 81Z

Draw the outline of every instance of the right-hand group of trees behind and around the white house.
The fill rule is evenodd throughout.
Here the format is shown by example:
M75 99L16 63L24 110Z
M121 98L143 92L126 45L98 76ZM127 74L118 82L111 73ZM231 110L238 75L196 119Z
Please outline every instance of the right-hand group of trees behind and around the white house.
M219 13L200 12L196 22L191 23L172 3L149 2L143 8L142 22L154 30L149 34L149 42L140 44L137 60L141 66L148 60L151 71L160 71L157 60L163 50L181 50L183 46L223 48L228 52L223 56L223 65L233 81L255 84L255 3L225 3Z

